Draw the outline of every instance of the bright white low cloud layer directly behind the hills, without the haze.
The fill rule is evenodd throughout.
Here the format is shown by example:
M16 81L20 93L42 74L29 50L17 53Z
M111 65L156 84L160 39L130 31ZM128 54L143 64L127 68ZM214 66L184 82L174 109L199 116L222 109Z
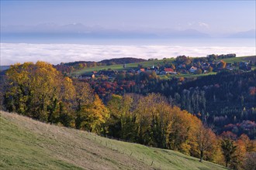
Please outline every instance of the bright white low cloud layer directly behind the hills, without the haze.
M143 59L208 54L236 53L237 56L256 55L255 47L223 46L100 46L82 44L27 44L1 43L1 66L36 62L67 63L73 61L100 61L119 57Z

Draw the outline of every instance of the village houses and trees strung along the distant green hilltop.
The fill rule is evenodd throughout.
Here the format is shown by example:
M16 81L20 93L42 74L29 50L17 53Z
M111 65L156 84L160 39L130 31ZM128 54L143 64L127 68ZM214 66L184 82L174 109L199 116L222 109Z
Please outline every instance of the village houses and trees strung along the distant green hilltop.
M178 56L173 62L163 62L162 64L152 64L152 66L144 67L142 64L138 64L136 68L130 68L127 64L123 64L122 70L104 69L99 71L92 71L91 73L85 73L80 76L81 79L95 79L100 77L107 77L112 80L119 73L156 73L157 75L181 75L181 74L207 74L218 73L222 70L251 70L251 66L254 64L249 62L238 63L226 63L222 59L234 58L236 54L227 55L209 55L202 58L190 58L187 56Z

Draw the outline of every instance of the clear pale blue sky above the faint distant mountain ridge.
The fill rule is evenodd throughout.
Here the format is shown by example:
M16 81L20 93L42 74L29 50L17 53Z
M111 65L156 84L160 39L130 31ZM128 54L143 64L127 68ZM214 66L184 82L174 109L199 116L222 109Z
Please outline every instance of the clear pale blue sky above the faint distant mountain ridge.
M255 1L1 1L1 25L106 29L196 29L225 34L255 29Z

